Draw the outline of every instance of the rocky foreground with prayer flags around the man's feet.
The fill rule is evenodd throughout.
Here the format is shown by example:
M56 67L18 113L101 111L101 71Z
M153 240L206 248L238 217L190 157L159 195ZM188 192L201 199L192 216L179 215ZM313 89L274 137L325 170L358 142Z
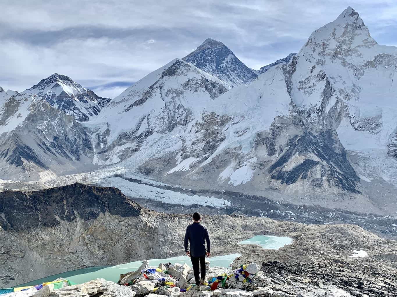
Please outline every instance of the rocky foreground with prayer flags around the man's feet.
M120 275L119 283L127 282L123 285L96 279L57 290L51 285L39 291L31 288L28 294L19 291L6 297L392 297L397 292L393 276L359 276L346 269L332 272L304 263L268 262L262 267L251 263L235 270L206 268L208 283L201 286L192 284L193 271L186 264L148 267L145 261L135 272Z

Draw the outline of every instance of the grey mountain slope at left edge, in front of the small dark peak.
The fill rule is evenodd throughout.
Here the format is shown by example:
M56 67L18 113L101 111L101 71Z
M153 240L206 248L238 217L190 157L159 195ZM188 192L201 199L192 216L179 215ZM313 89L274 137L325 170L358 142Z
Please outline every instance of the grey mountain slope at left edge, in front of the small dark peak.
M90 166L91 138L37 95L0 92L0 179L46 180Z

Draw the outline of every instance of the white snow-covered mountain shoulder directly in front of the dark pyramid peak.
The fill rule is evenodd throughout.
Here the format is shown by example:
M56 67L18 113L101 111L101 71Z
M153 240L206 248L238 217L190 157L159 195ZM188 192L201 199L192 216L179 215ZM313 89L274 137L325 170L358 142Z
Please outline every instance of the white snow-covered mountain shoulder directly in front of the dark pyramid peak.
M114 98L92 123L95 134L95 164L113 164L141 151L175 128L183 130L210 101L227 91L214 76L174 59L148 74ZM151 140L149 140L151 139ZM174 145L166 140L165 146ZM160 147L165 151L166 147Z

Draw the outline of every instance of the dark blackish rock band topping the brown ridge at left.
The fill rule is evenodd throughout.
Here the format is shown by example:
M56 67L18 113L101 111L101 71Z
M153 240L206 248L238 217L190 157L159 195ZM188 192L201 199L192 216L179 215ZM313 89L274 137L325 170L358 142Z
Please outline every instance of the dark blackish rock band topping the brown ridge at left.
M141 207L117 188L80 183L33 192L0 193L0 227L4 230L54 227L76 217L96 219L105 212L134 217L140 214Z

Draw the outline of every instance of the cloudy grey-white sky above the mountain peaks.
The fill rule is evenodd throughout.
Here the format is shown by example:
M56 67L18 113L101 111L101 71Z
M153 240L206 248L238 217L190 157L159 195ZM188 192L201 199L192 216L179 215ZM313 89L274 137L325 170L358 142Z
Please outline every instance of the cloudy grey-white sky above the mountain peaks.
M2 0L0 86L23 91L58 72L103 97L206 38L259 69L297 52L352 6L379 44L397 45L397 1Z

